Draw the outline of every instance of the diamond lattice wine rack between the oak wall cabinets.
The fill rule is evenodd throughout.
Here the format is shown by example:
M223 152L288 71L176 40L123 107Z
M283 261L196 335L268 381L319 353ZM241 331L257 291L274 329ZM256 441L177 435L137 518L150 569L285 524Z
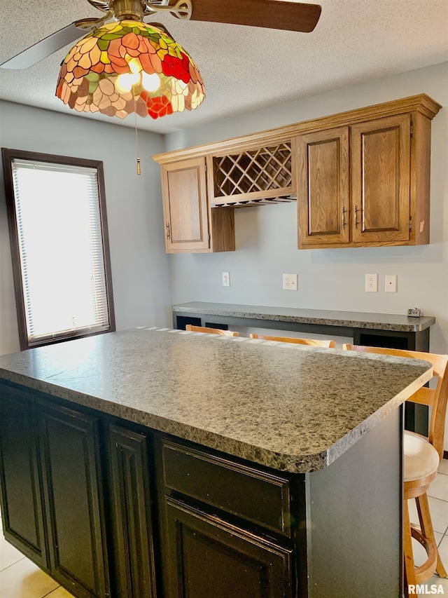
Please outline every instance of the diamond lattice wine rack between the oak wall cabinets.
M283 196L281 201L285 201L284 196L288 195L292 184L291 145L288 142L217 156L213 163L214 203L221 203L220 198L228 198L226 203L234 203L229 201L232 196L237 202L239 196L248 193L262 194L270 198L269 203L277 196Z

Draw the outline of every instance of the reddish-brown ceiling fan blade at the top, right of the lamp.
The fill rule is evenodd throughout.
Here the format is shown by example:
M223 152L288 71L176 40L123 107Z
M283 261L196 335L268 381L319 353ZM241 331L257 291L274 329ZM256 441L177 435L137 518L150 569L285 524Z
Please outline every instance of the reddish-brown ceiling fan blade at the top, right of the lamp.
M281 0L193 0L193 21L311 32L321 16L318 4Z

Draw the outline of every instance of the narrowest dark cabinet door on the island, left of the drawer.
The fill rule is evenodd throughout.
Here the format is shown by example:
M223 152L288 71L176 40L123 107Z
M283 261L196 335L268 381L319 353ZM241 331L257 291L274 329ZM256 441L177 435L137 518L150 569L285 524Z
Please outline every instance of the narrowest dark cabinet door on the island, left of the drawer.
M155 598L148 439L109 428L114 578L117 598Z

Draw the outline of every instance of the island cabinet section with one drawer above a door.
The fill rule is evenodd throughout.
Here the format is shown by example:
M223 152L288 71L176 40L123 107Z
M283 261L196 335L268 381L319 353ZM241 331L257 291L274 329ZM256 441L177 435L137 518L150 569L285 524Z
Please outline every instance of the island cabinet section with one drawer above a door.
M162 438L166 595L292 598L287 477Z

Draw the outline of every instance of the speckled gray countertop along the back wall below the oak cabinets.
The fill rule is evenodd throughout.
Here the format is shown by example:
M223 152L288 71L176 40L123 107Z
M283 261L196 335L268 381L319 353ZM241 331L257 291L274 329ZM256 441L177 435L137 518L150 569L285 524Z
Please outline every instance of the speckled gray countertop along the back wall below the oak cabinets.
M172 306L173 311L186 313L207 313L227 315L232 318L253 318L254 320L274 320L278 322L300 322L349 328L370 328L393 330L395 332L421 332L433 324L433 315L421 318L408 318L407 315L393 313L363 313L358 311L332 311L323 309L302 309L295 307L269 307L260 305L237 305L227 303L207 303L190 301Z

